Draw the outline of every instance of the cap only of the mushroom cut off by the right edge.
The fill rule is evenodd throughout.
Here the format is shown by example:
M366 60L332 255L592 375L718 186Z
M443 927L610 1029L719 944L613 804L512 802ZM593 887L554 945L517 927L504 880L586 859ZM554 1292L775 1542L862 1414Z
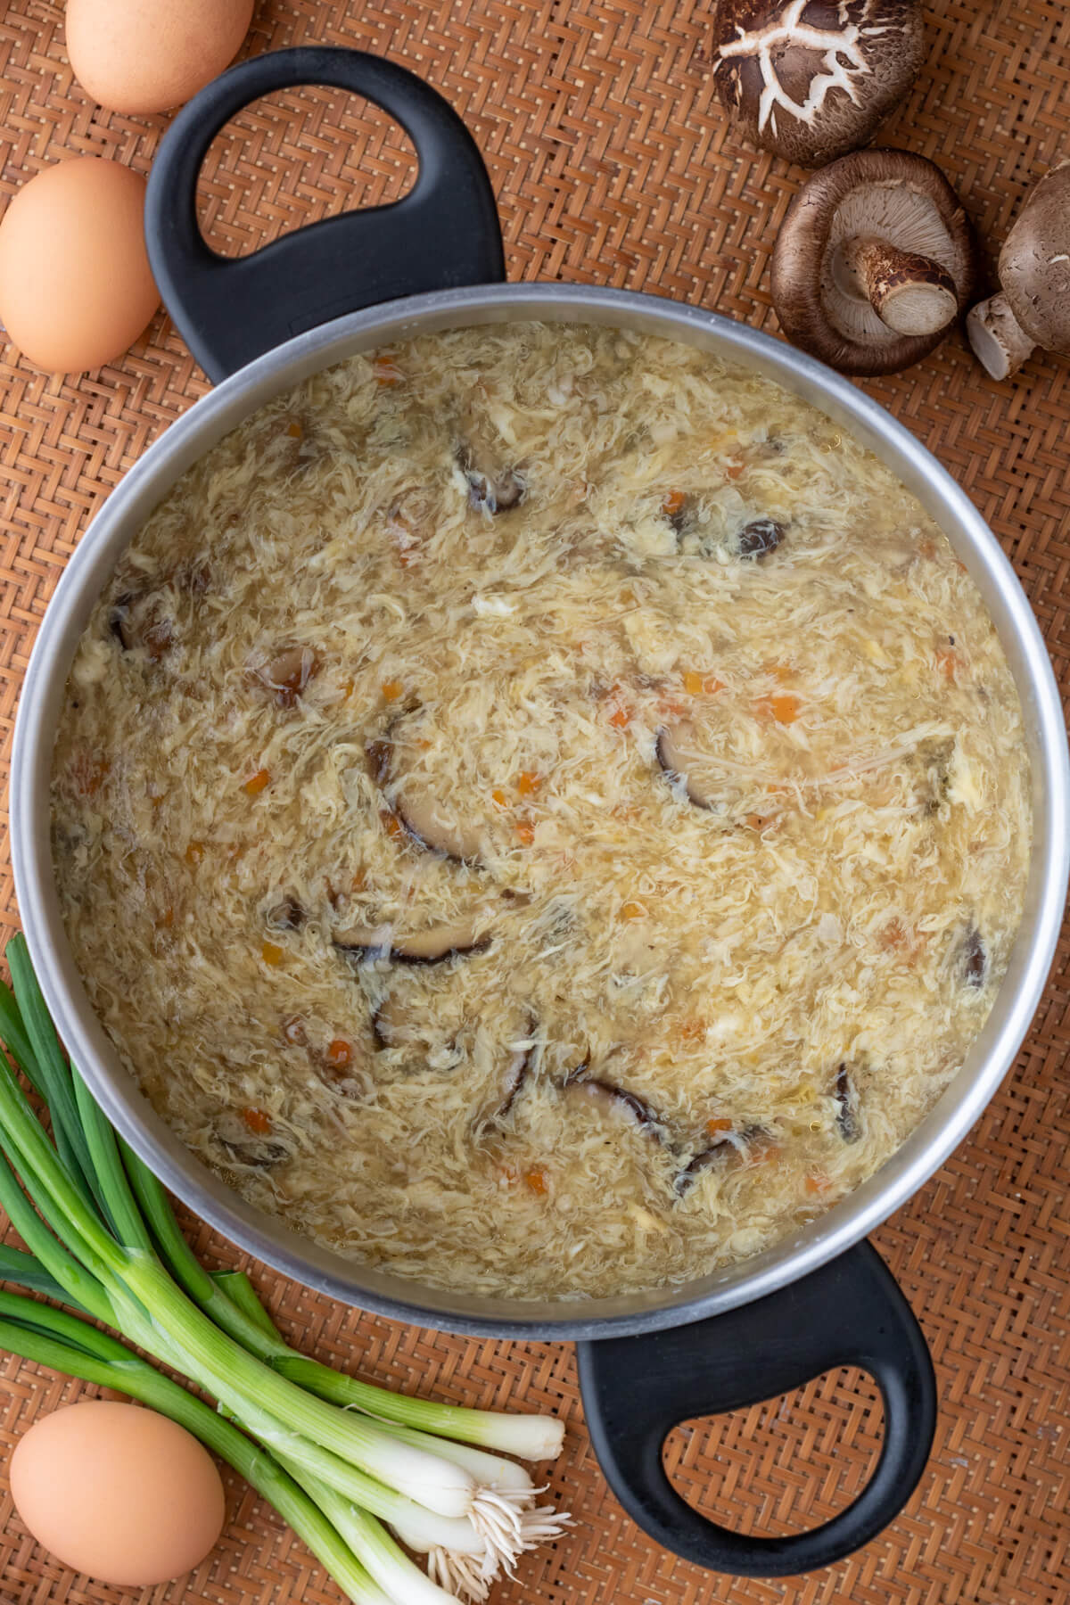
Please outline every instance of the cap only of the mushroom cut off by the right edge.
M1030 340L1070 351L1070 160L1030 191L999 252L999 286Z

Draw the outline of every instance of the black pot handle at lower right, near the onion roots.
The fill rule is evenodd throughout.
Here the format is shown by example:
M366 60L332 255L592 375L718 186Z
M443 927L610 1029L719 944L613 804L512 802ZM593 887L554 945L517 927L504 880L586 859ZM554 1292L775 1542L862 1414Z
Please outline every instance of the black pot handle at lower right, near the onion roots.
M712 1571L784 1578L842 1560L898 1515L932 1446L929 1348L868 1242L727 1314L578 1343L578 1356L587 1427L613 1493L659 1544ZM809 1533L752 1538L709 1522L677 1494L661 1464L672 1427L775 1398L836 1366L868 1371L884 1400L881 1459L853 1504Z

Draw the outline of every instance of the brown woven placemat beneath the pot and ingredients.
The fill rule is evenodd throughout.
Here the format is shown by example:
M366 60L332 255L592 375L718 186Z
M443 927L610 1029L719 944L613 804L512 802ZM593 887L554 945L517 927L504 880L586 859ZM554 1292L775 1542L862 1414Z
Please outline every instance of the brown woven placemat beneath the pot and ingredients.
M650 289L772 332L768 250L800 173L746 149L717 108L699 0L265 0L247 50L345 43L406 63L467 119L501 201L513 279ZM165 119L99 111L72 82L63 8L0 5L5 197L64 152L146 170ZM982 238L998 246L1030 183L1060 151L1070 96L1070 5L938 0L929 63L886 141L934 157ZM335 95L261 103L228 130L202 181L221 249L253 249L298 221L401 193L404 140ZM1035 358L990 384L951 339L866 385L946 464L996 530L1070 689L1070 369ZM205 382L165 318L122 363L79 382L0 364L0 733L10 743L34 631L90 514ZM6 751L6 745L5 745ZM0 936L16 926L0 849ZM1065 1193L1067 941L1014 1075L969 1143L876 1242L932 1343L940 1425L910 1505L861 1554L783 1583L712 1578L650 1544L608 1494L587 1443L566 1345L468 1342L343 1310L253 1268L282 1324L324 1358L398 1388L481 1406L549 1408L568 1422L553 1496L574 1533L528 1560L496 1599L663 1605L1062 1605L1067 1560L1070 1345ZM191 1229L197 1229L189 1223ZM233 1263L199 1229L209 1258ZM29 1422L80 1388L0 1361L0 1457ZM871 1384L849 1372L674 1435L680 1488L741 1528L825 1520L865 1480L879 1438ZM50 1562L0 1478L2 1592L104 1602ZM265 1605L337 1591L247 1489L229 1483L226 1538L159 1600Z

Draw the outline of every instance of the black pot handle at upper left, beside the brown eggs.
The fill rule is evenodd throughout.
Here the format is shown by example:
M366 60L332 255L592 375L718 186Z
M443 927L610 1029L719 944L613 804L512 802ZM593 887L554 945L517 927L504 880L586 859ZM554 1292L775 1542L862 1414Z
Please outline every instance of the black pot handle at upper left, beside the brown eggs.
M242 106L298 83L350 90L395 117L415 146L415 185L390 205L324 218L250 257L220 257L197 225L201 164ZM505 278L494 191L475 140L436 90L361 50L278 50L209 83L160 141L144 223L164 303L212 380L361 307Z

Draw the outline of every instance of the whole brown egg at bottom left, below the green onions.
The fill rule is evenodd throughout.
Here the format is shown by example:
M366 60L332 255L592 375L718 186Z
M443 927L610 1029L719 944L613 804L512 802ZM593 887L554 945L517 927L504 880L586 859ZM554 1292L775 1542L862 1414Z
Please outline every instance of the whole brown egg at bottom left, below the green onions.
M99 1583L148 1587L199 1565L223 1531L223 1483L183 1427L140 1404L83 1400L34 1422L11 1497L39 1544Z

